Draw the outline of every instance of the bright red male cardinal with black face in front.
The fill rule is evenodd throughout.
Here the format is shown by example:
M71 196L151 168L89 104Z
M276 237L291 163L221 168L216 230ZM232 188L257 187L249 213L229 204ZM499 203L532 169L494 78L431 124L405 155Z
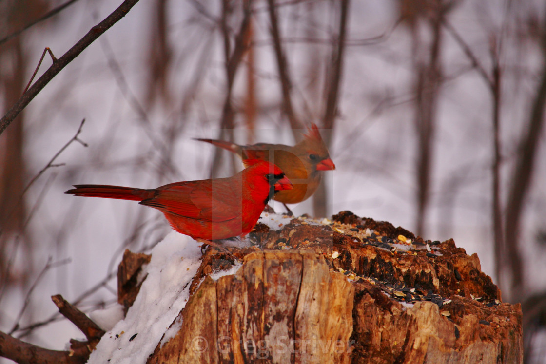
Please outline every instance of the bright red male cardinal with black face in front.
M135 200L165 214L171 227L197 241L243 236L277 191L293 188L276 165L245 160L248 168L227 178L165 184L155 189L77 184L65 193L76 196Z

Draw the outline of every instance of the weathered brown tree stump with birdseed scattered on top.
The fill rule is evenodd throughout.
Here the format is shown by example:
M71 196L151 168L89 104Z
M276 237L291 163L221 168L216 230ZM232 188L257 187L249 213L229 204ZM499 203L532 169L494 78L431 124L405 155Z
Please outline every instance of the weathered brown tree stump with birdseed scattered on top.
M149 362L523 361L521 306L501 303L475 254L350 212L333 220L259 224L258 246L234 249L242 267L217 281L234 260L207 250L181 329Z

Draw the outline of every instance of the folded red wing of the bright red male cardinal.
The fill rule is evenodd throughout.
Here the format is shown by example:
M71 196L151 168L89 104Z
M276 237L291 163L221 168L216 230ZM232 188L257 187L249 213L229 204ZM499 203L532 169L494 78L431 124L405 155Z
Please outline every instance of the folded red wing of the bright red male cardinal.
M221 222L240 216L237 199L227 189L212 188L210 180L167 184L140 204L178 216ZM241 204L239 198L239 205Z

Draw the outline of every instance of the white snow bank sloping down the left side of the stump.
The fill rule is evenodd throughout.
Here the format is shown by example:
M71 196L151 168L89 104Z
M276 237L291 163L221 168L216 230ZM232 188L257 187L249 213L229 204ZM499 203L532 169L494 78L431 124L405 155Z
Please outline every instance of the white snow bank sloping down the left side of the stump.
M147 277L133 306L126 318L105 333L88 363L146 362L186 306L189 284L200 264L199 246L192 238L173 231L152 249L150 264L144 268ZM105 316L114 320L113 312Z

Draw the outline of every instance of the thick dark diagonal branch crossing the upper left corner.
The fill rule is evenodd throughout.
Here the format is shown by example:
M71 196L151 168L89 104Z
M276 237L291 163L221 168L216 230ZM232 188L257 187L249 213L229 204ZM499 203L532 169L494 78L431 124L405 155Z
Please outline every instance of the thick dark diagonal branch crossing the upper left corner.
M81 38L72 48L70 48L64 55L53 62L50 68L45 71L43 75L32 85L28 91L21 96L19 100L9 109L9 111L0 120L0 135L4 132L5 128L15 119L19 113L25 109L25 107L32 101L32 99L41 91L55 77L68 63L72 62L74 58L87 48L88 45L93 43L100 35L106 32L112 25L121 20L128 11L139 0L125 0L120 7L106 17L98 25L91 28L84 38Z

